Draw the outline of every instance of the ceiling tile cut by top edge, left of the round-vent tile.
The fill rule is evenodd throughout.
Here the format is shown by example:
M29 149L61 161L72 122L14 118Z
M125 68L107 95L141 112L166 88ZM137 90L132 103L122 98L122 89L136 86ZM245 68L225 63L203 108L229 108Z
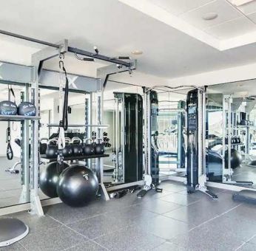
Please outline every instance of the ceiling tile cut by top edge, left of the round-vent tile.
M215 0L148 0L152 4L167 10L175 16L186 13L189 10L198 8Z

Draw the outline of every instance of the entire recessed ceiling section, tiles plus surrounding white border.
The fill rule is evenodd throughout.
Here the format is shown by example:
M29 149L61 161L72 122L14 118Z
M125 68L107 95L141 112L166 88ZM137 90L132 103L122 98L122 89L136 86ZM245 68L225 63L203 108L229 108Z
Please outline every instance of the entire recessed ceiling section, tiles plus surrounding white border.
M256 42L256 1L237 7L234 0L119 0L136 10L178 28L188 35L224 50L236 47L227 39L238 40L239 46ZM216 13L217 18L204 20L206 13ZM248 38L252 34L252 38Z

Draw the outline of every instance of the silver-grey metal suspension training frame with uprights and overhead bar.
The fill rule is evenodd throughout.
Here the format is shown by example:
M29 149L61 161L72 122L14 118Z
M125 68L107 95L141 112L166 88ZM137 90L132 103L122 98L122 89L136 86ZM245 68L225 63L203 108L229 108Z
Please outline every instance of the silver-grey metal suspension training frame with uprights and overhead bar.
M47 61L50 58L54 58L60 54L64 54L66 52L72 52L76 56L77 55L83 55L89 58L92 58L92 60L88 58L84 58L84 60L93 61L93 58L101 60L101 61L107 61L111 64L108 66L101 67L97 69L97 78L91 79L90 82L93 83L90 88L93 90L92 92L96 92L96 101L97 101L97 125L98 125L98 137L102 137L102 111L103 111L103 95L104 95L104 88L107 85L107 80L110 75L116 74L118 72L129 72L131 73L132 70L136 69L136 61L132 61L129 58L124 58L124 60L121 60L119 58L110 58L104 55L100 55L98 53L98 49L95 48L95 52L87 52L82 49L76 49L73 47L68 46L67 40L61 41L57 44L51 44L46 41L40 41L35 38L29 38L22 35L14 34L12 32L7 32L0 30L1 34L9 35L15 38L23 39L26 41L31 41L38 44L44 44L47 47L45 49L41 49L39 52L36 52L32 55L32 64L33 64L33 70L31 75L31 68L27 66L19 66L11 63L4 64L4 66L9 66L12 68L13 66L19 69L19 71L24 72L24 75L26 77L30 76L30 78L27 78L24 83L31 83L31 96L33 99L33 104L37 108L37 114L36 117L21 117L21 116L13 116L13 117L5 117L1 116L0 120L22 120L27 121L31 120L31 157L29 157L28 149L29 149L29 140L26 138L24 140L24 153L26 154L27 163L30 162L31 168L27 168L27 189L29 190L29 197L30 197L30 203L27 204L19 204L13 207L8 207L0 209L0 215L4 215L7 213L15 213L21 210L30 210L31 213L37 214L38 216L43 216L44 212L42 210L42 204L53 204L58 203L59 199L48 199L45 202L40 201L38 196L38 175L39 175L39 157L38 157L38 137L39 137L39 123L38 120L40 117L38 116L39 112L39 86L44 86L42 84L42 79L45 77L45 73L48 71L43 70L44 61ZM13 72L13 71L12 71ZM19 73L21 73L19 72ZM1 71L0 71L1 74ZM6 72L4 73L4 77L6 77ZM53 73L54 75L54 73ZM56 76L56 74L55 74ZM58 74L57 74L58 76ZM7 74L7 78L3 78L4 80L1 80L1 83L12 83L16 82L16 79L13 80L12 75ZM21 82L22 83L22 82ZM47 82L45 86L52 86L54 82L49 83ZM58 83L56 81L55 83ZM82 89L84 89L84 83L80 83L80 86ZM75 86L77 87L77 86ZM96 88L95 88L96 87ZM25 131L28 130L28 125L25 123ZM30 158L30 160L29 160ZM103 184L103 159L98 158L96 163L96 173L98 176L98 181L101 188L101 194L104 196L106 200L110 199L107 193L107 190Z

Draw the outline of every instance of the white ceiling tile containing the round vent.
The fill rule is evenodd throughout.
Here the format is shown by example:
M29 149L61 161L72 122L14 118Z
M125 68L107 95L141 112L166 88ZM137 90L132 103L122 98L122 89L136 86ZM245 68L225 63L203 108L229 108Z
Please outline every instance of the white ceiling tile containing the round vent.
M205 13L218 13L218 18L209 21L203 20L202 16ZM184 13L180 17L187 21L189 24L192 24L201 30L205 30L225 21L239 18L240 16L242 16L242 14L226 1L217 0L199 7L196 10Z

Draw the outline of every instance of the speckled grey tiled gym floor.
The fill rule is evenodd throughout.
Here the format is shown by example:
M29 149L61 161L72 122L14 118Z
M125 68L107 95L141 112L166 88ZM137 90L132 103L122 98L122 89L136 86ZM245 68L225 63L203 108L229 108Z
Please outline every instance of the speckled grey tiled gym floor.
M232 192L213 201L202 193L187 195L178 182L162 182L142 199L128 193L82 208L44 207L45 216L15 217L30 227L26 238L0 250L256 250L256 206L232 200Z

